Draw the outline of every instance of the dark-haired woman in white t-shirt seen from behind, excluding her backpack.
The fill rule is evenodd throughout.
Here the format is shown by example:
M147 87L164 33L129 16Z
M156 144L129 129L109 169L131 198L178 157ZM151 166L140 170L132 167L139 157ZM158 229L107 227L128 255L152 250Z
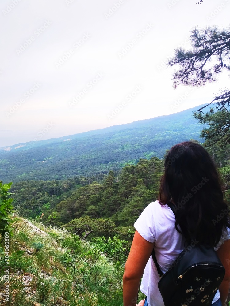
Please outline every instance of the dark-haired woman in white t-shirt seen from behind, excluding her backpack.
M230 283L230 224L215 164L201 145L186 141L171 148L164 166L159 199L150 203L134 224L136 232L123 276L124 306L136 306L142 275L140 289L146 299L138 305L164 306L152 250L165 273L192 237L214 247L224 265L224 280L212 306L224 305ZM169 201L176 205L176 220L167 206ZM181 233L179 224L189 236Z

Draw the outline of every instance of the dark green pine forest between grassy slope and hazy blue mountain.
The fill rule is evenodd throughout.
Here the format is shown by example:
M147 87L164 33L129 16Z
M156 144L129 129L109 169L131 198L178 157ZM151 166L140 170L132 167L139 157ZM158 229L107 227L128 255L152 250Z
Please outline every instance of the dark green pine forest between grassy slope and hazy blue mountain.
M68 226L88 222L91 229L114 234L117 227L132 226L144 207L157 199L162 174L163 162L153 157L125 166L117 177L110 171L102 182L94 177L18 182L12 185L13 205L20 215L42 216L49 225L62 226L77 218Z

